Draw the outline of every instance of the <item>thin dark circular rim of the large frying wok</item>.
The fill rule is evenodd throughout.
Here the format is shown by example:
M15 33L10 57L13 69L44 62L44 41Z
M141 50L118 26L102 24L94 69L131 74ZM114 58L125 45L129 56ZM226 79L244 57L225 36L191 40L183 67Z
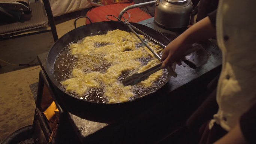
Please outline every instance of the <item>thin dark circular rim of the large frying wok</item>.
M116 22L116 21L103 21L103 22L95 22L95 23L92 23L92 24L86 24L86 25L82 25L80 27L77 27L77 28L74 28L73 30L71 31L68 31L67 33L65 33L63 36L61 36L55 43L54 45L52 45L51 49L49 50L47 56L46 56L46 73L49 77L49 79L51 80L51 82L54 84L55 87L58 88L58 90L60 90L61 92L63 92L64 94L70 96L72 99L75 99L75 100L78 100L78 101L82 101L82 102L89 102L90 104L100 104L100 105L121 105L121 104L128 104L128 103L131 103L131 102L134 102L134 101L138 101L140 100L141 98L144 98L145 96L147 95L152 95L154 94L156 91L158 91L159 89L163 88L167 83L168 81L171 79L171 75L170 73L168 73L167 75L167 78L165 80L165 82L162 84L162 86L158 87L157 89L154 89L153 92L149 92L147 94L144 94L144 95L141 95L135 99L132 99L132 100L129 100L129 101L125 101L125 102L118 102L118 103L98 103L98 102L92 102L92 101L86 101L85 99L80 99L80 98L76 98L72 95L70 95L67 91L65 91L65 89L61 86L60 83L58 83L58 81L56 80L56 77L54 76L54 68L53 68L53 72L51 72L51 68L49 67L49 57L51 57L51 52L54 50L54 47L61 42L61 40L66 37L69 33L71 33L72 31L76 31L76 30L79 30L79 29L82 29L84 27L89 27L88 25L93 25L93 24L104 24L104 23L111 23L111 22ZM121 23L121 22L118 22L118 23ZM138 24L138 23L134 23L134 22L130 22L132 25L134 25L136 27L136 25L140 25L142 27L147 27L146 25L142 25L142 24ZM159 33L165 40L167 40L168 43L170 43L170 40L165 37L162 33L160 33L159 31L157 30L154 30L153 28L150 28L150 27L147 27L153 31L155 31L155 33ZM116 29L119 29L119 28L116 28ZM153 36L151 36L153 37ZM154 37L153 37L154 38ZM74 41L74 40L73 40ZM71 43L71 42L70 42ZM64 47L65 48L65 47ZM63 49L64 49L63 48ZM163 48L164 49L164 48ZM58 54L60 53L60 51L58 52ZM56 61L56 58L54 60L54 64L53 64L53 67L55 65L55 61Z

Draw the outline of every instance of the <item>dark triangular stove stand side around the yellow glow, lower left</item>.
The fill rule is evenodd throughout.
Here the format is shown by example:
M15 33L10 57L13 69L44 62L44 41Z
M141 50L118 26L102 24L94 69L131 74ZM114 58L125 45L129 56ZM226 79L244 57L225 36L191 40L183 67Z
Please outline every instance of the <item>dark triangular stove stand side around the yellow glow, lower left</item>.
M52 88L52 84L49 83L47 76L45 76L43 71L40 71L33 122L34 142L35 144L80 144L79 138L68 121L67 113L64 112L58 103L58 99L55 97L56 93ZM59 110L58 124L55 128L52 128L51 123L43 113L51 105L52 101L55 101Z

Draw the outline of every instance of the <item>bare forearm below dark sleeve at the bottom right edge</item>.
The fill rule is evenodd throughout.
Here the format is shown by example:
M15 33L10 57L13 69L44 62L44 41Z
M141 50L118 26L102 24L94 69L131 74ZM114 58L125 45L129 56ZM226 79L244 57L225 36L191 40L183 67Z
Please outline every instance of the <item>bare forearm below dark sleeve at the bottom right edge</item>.
M231 129L225 136L220 138L214 144L246 144L246 140L243 136L239 123Z

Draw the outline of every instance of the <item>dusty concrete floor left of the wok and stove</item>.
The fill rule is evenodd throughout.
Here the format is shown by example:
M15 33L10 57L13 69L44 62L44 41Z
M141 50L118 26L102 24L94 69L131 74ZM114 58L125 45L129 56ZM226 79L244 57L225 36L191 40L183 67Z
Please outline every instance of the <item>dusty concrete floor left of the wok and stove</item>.
M68 21L62 20L60 24L57 24L58 37L73 30L73 23L74 19ZM85 19L77 21L78 26L83 24L85 24ZM37 42L33 42L35 37L39 37L37 38ZM51 39L49 40L50 42L46 41L47 39ZM28 44L31 41L32 43ZM38 51L42 51L42 49L48 50L51 48L53 39L51 33L44 33L26 36L25 39L18 38L0 41L0 50L3 49L3 45L6 48L9 47L15 50L14 43L19 46L29 46L30 49L37 48L39 49ZM42 48L42 46L46 46L46 48ZM22 47L19 49L22 49ZM9 53L13 50L9 50ZM19 54L26 55L25 53ZM36 57L36 55L31 57ZM10 59L17 59L17 57L13 56ZM35 101L29 85L38 82L40 70L40 66L34 66L0 74L0 143L17 129L33 124Z

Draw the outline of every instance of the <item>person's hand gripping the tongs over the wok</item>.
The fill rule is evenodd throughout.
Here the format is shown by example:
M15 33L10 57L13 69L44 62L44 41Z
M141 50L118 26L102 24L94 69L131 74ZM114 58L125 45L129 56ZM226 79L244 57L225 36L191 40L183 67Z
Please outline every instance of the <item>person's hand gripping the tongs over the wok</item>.
M184 56L184 53L188 45L184 42L183 37L179 36L170 42L164 49L161 61L163 61L162 67L171 67L174 62L180 64L180 59Z

